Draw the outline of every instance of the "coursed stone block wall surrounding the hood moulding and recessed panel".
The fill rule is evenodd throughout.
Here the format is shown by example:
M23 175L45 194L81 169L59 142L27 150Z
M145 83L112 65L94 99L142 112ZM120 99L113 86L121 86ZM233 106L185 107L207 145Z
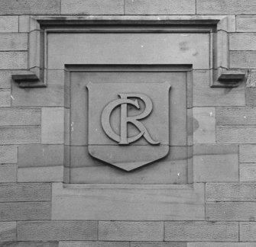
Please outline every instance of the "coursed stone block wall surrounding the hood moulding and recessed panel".
M1 0L0 4L0 246L256 246L255 0ZM29 92L48 88L23 89L17 101L17 85L11 80L13 72L28 68L28 20L37 14L232 17L229 63L230 68L249 70L245 88L196 91L196 85L207 81L206 72L195 72L193 79L193 115L198 122L193 186L198 186L196 200L204 200L203 218L192 210L183 212L195 216L188 221L179 216L173 221L61 219L66 210L63 197L54 196L65 194L59 188L64 159L60 85L54 85L49 98L34 94L43 102L37 105L38 98ZM223 96L228 94L232 97ZM134 188L125 189L136 194ZM183 193L176 196L190 204Z

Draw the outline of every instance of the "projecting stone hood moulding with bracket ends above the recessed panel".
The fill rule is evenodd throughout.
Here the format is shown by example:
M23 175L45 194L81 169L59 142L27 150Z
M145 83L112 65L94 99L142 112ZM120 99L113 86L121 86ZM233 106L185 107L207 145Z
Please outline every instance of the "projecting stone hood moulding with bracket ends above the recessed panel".
M208 33L210 87L234 88L245 81L247 72L229 69L228 32L233 31L232 21L232 17L228 16L206 15L31 17L28 72L13 74L12 79L21 88L47 86L48 57L52 56L47 53L47 35L50 33ZM190 58L183 59L183 64L193 66L192 62ZM173 60L173 65L177 65L177 61ZM65 66L64 63L63 69Z

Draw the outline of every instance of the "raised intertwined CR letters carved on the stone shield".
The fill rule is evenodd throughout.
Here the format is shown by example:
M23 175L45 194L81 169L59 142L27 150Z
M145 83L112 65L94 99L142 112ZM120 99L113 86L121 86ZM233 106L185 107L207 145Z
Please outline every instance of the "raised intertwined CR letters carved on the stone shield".
M157 142L153 140L148 133L146 127L139 121L145 117L147 117L149 114L151 114L151 111L153 109L153 104L151 99L144 94L136 94L136 93L121 93L118 94L120 98L116 99L115 101L110 102L106 105L104 110L102 111L102 128L105 131L106 135L109 136L112 140L115 140L119 145L128 145L129 143L134 143L136 140L140 139L142 136L144 136L145 140L147 140L148 143L151 143L152 145L157 145L160 142ZM137 109L140 109L140 106L138 104L138 100L131 100L128 98L140 98L141 101L145 104L144 111L137 115L128 117L127 112L127 105L131 104ZM115 133L114 130L112 130L111 124L110 124L110 117L112 114L112 111L115 109L115 107L121 106L121 119L120 119L120 135ZM140 131L135 136L128 137L128 130L127 126L128 123L132 123L137 129Z

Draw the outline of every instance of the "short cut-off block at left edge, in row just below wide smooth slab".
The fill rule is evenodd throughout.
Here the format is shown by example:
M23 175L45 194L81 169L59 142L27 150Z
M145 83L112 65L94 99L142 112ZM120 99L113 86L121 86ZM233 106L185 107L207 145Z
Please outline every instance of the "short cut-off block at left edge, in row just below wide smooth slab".
M16 240L16 222L0 222L0 245Z

